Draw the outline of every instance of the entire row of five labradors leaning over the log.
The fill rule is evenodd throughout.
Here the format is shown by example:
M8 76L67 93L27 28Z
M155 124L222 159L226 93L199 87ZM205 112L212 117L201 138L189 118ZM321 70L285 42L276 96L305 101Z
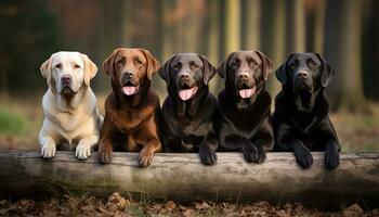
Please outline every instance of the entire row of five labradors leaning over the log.
M161 151L198 152L206 165L217 163L217 151L239 151L253 163L264 162L266 151L291 151L303 168L313 163L311 151L325 151L329 169L340 162L324 92L335 72L317 53L292 53L276 69L282 91L273 114L265 90L273 63L260 51L233 52L215 67L196 53L160 66L145 49L116 49L103 62L112 86L104 118L90 88L97 67L87 55L57 52L40 69L49 85L39 133L44 158L58 145L86 159L99 143L101 163L114 151L140 152L141 167ZM161 107L151 88L156 72L167 84ZM208 88L215 74L224 79L218 98Z

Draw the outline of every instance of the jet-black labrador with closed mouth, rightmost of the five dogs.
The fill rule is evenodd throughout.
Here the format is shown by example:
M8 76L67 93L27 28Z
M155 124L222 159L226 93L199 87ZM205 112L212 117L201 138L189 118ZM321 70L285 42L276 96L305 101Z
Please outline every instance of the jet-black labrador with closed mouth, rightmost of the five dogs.
M318 53L292 53L275 74L283 88L275 98L274 149L292 151L302 168L312 165L311 151L325 151L326 167L336 168L340 144L324 92L335 71Z

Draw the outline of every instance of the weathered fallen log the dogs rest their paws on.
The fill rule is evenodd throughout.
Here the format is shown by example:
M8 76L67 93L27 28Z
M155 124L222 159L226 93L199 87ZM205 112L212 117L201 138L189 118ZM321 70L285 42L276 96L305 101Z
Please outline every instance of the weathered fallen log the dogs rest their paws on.
M78 161L71 152L42 159L36 151L0 151L0 196L120 192L133 200L300 202L318 208L361 201L379 207L379 153L343 153L331 171L324 167L323 153L313 153L314 164L305 170L291 153L267 153L263 164L249 164L239 153L218 156L217 165L204 166L197 154L159 153L152 166L140 168L136 153L114 153L110 164L101 165L96 153Z

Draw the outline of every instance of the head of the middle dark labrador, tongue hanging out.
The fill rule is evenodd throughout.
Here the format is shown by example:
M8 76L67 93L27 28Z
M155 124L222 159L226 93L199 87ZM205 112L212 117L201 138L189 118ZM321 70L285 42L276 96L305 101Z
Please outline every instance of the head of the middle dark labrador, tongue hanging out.
M214 76L214 66L196 53L178 53L172 55L158 71L167 82L170 94L178 94L182 101L187 101L205 87Z

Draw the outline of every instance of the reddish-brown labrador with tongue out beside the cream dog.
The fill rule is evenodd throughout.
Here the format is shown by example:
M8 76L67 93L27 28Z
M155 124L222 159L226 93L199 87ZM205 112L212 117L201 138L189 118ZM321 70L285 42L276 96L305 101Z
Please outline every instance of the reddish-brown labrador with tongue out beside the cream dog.
M157 127L159 98L151 88L158 61L145 49L116 49L103 63L113 92L105 101L99 159L109 163L113 151L140 151L139 165L148 166L161 151Z

